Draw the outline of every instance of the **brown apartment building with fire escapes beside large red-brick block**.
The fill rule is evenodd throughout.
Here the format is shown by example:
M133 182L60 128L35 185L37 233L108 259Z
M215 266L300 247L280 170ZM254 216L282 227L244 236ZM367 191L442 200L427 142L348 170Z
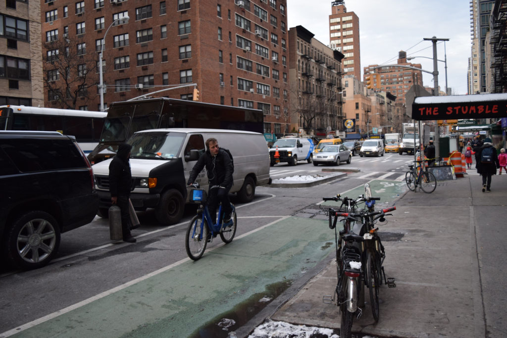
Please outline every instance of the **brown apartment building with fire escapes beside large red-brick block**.
M343 54L303 26L289 29L291 132L325 137L343 131Z

